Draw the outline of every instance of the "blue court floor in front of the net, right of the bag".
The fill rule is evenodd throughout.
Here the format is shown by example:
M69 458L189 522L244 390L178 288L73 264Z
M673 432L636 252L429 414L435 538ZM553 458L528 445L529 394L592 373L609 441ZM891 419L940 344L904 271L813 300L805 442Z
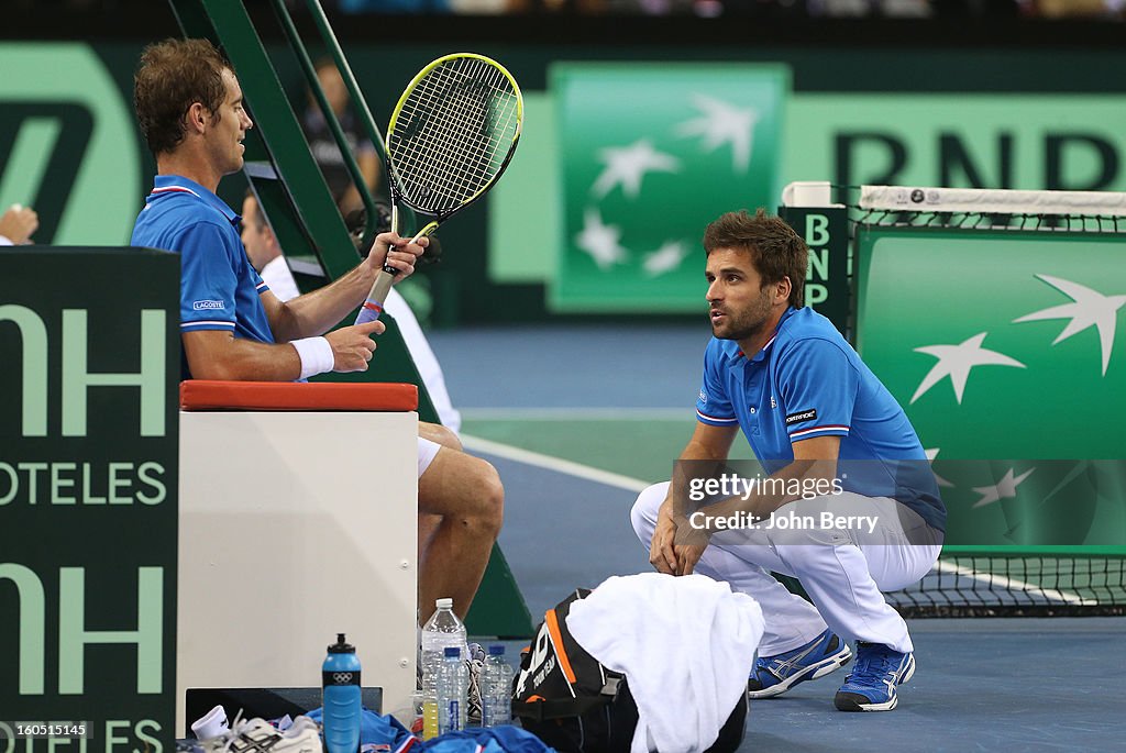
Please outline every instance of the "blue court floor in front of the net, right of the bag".
M756 701L741 751L1121 750L1126 620L911 620L918 669L884 714L832 706L848 666Z

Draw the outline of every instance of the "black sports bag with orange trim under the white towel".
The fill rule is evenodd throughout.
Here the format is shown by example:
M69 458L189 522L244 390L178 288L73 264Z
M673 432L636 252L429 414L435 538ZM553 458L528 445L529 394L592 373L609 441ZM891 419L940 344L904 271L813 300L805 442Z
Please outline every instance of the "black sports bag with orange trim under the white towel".
M589 593L578 589L544 613L512 680L512 715L560 753L628 753L637 705L627 679L588 654L566 627L572 602ZM734 753L745 720L744 694L706 753Z

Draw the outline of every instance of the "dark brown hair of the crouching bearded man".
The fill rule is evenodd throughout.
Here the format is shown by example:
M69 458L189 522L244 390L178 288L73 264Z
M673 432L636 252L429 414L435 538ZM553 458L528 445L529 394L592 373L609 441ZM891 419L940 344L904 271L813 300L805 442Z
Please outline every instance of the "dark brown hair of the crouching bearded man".
M789 304L805 305L805 275L810 266L810 248L780 217L768 215L759 207L752 217L747 209L721 215L704 231L704 251L742 249L762 277L762 285L789 278Z

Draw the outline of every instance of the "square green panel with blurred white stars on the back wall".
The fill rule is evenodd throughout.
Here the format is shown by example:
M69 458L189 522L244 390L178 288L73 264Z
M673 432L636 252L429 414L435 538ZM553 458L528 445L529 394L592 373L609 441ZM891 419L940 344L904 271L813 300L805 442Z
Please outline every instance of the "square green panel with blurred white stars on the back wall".
M772 66L558 66L564 253L556 299L699 311L704 226L770 206L787 78ZM608 114L613 113L613 117Z

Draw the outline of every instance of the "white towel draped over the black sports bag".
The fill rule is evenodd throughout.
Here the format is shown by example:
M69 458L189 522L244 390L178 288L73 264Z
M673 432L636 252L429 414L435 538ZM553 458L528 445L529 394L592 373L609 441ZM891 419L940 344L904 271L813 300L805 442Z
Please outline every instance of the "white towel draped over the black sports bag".
M629 681L637 702L631 753L698 753L747 692L762 610L704 575L610 577L571 604L571 635Z

